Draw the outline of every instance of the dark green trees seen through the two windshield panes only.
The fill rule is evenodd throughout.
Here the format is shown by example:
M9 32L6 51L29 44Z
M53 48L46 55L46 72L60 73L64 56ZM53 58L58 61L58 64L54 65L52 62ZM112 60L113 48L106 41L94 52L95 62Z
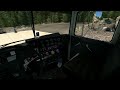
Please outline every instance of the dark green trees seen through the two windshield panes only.
M34 23L59 23L69 22L70 12L51 12L51 11L34 11ZM31 14L29 11L0 11L0 27L15 27L31 24Z

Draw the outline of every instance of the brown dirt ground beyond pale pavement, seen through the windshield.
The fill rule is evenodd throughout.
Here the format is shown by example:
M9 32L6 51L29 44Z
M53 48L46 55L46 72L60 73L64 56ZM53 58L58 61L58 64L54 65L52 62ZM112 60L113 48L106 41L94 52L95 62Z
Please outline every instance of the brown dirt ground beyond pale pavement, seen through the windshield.
M31 30L31 27L16 27L17 31L25 31ZM3 28L5 32L14 32L13 27L5 27ZM36 24L35 30L49 32L49 33L56 33L59 32L60 34L68 34L69 32L69 23L52 23L52 24Z

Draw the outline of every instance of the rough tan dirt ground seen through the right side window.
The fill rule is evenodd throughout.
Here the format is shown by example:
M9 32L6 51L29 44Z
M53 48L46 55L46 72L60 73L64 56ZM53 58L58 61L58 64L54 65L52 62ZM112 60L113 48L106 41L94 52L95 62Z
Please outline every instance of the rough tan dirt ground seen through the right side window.
M83 33L82 33L83 32ZM75 34L78 36L84 36L91 39L101 40L110 42L112 40L114 32L104 31L102 28L100 30L93 30L88 28L86 25L82 31L82 26L77 26Z

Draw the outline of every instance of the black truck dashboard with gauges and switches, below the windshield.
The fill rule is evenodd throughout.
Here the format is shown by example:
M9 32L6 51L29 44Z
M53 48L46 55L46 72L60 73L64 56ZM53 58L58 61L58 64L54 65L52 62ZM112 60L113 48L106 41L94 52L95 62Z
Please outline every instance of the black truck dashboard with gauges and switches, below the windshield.
M0 51L0 72L5 71L14 78L32 76L34 72L41 77L48 75L53 77L53 74L48 73L52 70L55 74L55 70L58 70L57 68L64 62L65 48L62 41L62 36L54 33L3 48ZM1 73L0 77L6 77Z

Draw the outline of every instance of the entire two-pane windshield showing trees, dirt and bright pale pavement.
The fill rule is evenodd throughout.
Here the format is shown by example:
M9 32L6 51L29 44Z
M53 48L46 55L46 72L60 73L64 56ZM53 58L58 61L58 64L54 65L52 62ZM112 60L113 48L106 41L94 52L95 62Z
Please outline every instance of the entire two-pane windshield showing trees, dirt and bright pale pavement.
M35 33L39 32L39 36L68 34L70 19L71 12L67 11L33 11ZM34 38L30 11L0 11L0 45L15 45L30 38Z

